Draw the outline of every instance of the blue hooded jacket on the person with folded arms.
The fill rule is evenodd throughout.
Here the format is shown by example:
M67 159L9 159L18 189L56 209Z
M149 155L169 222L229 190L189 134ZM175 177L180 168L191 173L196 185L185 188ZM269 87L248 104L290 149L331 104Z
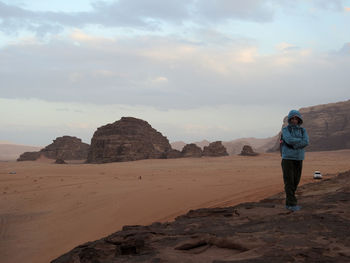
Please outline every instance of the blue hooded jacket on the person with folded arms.
M290 123L290 119L297 116L300 119L298 125ZM288 114L288 126L282 129L282 159L304 160L304 148L309 145L309 136L306 129L300 127L303 123L301 114L297 110L291 110Z

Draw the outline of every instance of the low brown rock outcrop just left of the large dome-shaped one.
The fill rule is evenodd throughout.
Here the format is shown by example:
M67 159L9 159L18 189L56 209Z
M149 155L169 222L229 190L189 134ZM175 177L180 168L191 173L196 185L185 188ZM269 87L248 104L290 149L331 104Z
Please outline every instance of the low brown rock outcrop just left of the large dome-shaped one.
M81 139L72 136L58 137L53 143L41 149L39 152L26 152L21 154L17 161L34 161L40 156L49 159L85 160L89 145Z

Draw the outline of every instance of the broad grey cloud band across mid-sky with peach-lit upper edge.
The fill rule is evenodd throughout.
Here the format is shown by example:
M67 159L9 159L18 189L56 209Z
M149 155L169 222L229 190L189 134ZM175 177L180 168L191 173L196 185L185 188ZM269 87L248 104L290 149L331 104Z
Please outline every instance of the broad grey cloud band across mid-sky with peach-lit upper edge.
M174 37L82 39L79 46L77 38L56 38L3 48L1 97L169 110L283 104L281 94L303 105L350 96L349 56L305 49L261 55L239 41L217 48Z

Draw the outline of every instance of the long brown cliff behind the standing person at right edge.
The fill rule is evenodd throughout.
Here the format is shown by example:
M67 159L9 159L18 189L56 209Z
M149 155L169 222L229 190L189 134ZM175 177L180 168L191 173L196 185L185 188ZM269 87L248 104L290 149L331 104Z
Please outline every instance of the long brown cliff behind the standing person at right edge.
M307 151L350 149L350 100L301 108L300 113L310 138ZM279 138L280 135L269 151L279 150Z

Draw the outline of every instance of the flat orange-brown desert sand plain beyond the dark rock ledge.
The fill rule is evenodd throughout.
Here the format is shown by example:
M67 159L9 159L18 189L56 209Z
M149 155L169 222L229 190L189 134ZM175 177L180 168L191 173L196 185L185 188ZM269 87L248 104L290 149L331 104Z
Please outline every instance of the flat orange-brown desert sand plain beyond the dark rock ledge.
M314 181L315 170L330 176L349 170L349 160L350 150L307 153L301 184ZM279 154L102 165L0 162L0 258L49 262L124 225L171 221L190 209L280 191Z

